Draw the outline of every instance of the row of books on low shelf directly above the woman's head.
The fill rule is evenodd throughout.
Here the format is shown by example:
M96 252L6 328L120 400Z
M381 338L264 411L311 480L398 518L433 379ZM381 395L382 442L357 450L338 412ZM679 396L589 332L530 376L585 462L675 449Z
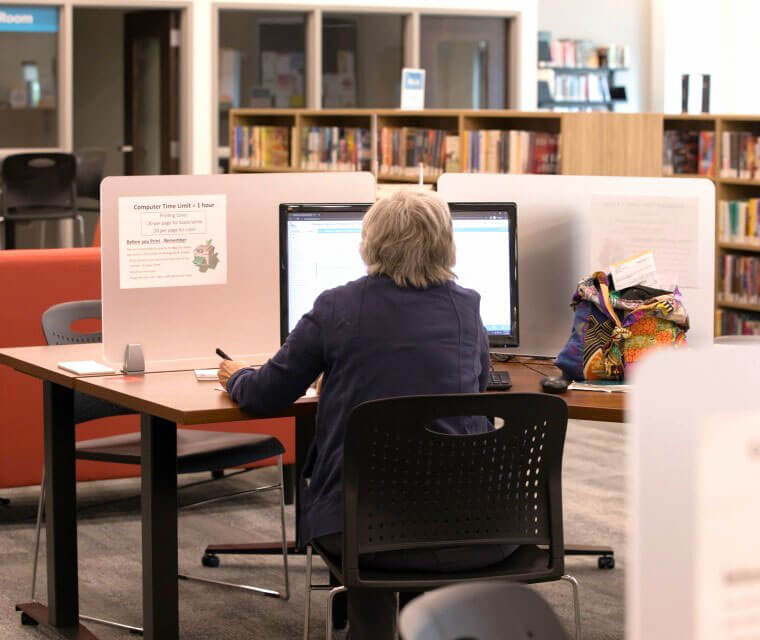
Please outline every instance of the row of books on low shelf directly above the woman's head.
M380 173L416 178L422 165L425 178L459 171L459 136L444 129L383 127L378 159Z

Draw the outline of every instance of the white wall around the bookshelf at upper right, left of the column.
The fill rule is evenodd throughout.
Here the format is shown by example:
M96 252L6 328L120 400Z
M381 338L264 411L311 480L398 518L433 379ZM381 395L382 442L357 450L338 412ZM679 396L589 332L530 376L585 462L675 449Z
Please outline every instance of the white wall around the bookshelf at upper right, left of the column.
M752 0L750 0L752 1ZM651 0L538 0L538 28L552 38L591 40L630 47L630 71L615 74L628 102L616 111L650 111L649 28Z

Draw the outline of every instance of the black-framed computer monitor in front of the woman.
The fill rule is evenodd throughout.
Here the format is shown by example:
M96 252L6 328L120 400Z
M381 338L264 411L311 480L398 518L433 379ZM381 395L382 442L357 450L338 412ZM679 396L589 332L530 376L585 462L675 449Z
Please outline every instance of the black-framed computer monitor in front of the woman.
M280 205L280 331L284 341L325 289L367 272L359 255L369 204ZM451 203L457 283L480 294L491 348L519 345L517 208Z

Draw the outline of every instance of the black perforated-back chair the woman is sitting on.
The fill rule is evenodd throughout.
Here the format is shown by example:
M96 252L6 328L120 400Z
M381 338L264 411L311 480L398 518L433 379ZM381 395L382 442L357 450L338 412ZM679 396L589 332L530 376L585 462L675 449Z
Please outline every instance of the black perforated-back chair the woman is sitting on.
M453 436L428 429L436 419L492 416L504 426ZM356 407L343 453L343 555L307 548L304 639L311 591L346 588L420 592L457 582L567 580L573 587L576 638L580 605L575 578L564 574L562 449L567 405L546 394L457 394L389 398ZM366 570L367 553L422 547L520 545L502 562L454 573ZM541 547L548 548L541 548ZM312 548L343 585L312 585Z

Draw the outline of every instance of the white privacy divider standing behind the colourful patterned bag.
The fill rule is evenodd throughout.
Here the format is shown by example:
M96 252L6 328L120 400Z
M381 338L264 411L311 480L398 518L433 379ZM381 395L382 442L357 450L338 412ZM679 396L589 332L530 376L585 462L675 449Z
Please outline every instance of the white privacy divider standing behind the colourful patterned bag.
M677 276L689 311L687 339L693 345L712 343L715 187L711 181L446 173L438 180L438 193L448 202L517 204L520 347L515 354L556 356L570 335L570 300L578 281L630 257L632 251L649 248L639 246L644 243L642 234L660 223L668 233L677 231L680 236L662 238L658 271L679 261L690 265L683 273L667 270L666 274ZM611 225L622 228L628 220L628 233L620 234L619 243L601 237ZM688 256L682 246L686 241L693 248ZM655 258L657 254L655 250Z

